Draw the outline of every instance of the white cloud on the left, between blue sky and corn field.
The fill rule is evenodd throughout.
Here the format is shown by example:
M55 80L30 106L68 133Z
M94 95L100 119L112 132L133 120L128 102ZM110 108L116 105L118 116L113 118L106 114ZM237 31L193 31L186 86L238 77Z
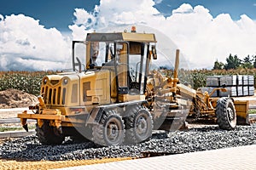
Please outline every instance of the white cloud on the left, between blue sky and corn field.
M60 31L24 14L0 18L0 70L63 69L70 45Z

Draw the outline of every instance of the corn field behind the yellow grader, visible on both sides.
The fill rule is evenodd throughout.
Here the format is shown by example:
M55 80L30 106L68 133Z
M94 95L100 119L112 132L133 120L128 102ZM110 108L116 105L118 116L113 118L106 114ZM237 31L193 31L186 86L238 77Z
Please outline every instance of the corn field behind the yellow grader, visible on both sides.
M166 77L172 77L173 71L161 70ZM55 71L0 71L0 91L15 88L29 94L38 95L40 84L45 75L55 74ZM178 78L181 83L188 82L193 88L206 86L207 76L217 75L253 75L256 79L256 69L236 70L179 70ZM255 83L254 83L255 84Z

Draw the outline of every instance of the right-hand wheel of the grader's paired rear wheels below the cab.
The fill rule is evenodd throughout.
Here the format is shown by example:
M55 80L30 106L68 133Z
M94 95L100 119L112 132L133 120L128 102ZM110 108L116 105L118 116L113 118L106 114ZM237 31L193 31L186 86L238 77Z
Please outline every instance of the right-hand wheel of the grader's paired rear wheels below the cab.
M152 136L153 119L144 106L132 105L125 117L126 138L128 144L141 143Z

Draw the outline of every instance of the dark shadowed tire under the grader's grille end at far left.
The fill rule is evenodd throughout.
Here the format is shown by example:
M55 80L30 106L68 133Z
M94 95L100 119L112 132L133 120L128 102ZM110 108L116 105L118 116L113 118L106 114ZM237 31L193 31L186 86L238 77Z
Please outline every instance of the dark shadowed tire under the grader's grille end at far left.
M44 122L42 127L36 124L36 135L41 144L61 144L65 137L55 133L55 127L50 127L49 122Z

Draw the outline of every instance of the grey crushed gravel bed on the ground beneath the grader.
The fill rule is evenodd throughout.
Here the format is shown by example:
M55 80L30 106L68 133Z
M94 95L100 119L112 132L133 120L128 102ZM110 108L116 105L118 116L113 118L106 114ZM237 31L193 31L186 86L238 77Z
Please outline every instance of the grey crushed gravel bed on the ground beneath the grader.
M106 157L141 157L141 152L181 154L201 150L216 150L256 144L256 127L236 127L234 131L216 126L191 128L175 133L154 133L152 139L141 144L100 147L91 142L75 144L66 139L61 145L39 144L36 136L7 140L0 144L0 158L20 160L84 160Z

